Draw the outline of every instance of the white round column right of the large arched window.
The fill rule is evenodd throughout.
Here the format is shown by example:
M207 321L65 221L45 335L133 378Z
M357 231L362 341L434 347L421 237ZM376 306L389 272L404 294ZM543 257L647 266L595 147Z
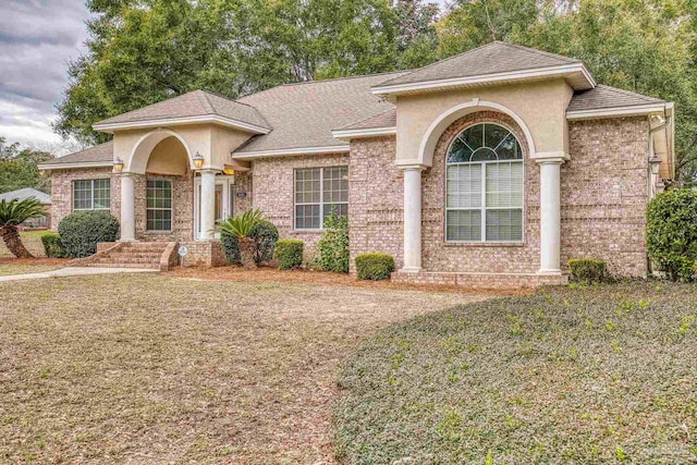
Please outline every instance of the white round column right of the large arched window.
M564 157L539 158L540 166L540 269L538 274L562 273L561 164Z

